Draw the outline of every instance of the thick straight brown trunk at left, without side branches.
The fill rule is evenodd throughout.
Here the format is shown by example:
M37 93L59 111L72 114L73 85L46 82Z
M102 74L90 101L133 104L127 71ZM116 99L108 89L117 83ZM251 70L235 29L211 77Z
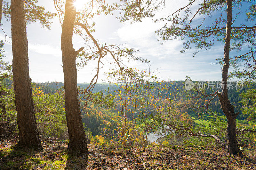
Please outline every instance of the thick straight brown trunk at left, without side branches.
M24 0L11 0L12 73L20 141L18 145L43 149L36 126L28 69L28 39Z

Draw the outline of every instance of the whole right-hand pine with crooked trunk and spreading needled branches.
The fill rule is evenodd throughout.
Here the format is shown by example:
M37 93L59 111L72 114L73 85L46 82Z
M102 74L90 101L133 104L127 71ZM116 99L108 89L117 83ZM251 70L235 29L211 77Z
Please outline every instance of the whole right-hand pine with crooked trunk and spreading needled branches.
M189 0L180 9L170 12L164 18L154 18L154 12L164 7L165 1L123 0L125 5L118 5L118 10L123 16L121 21L140 21L143 17L152 18L155 22L163 23L163 27L157 30L157 34L164 41L181 39L183 43L182 53L190 48L195 48L195 56L202 49L209 49L214 43L224 44L224 57L218 59L222 66L222 90L215 93L205 94L204 97L219 97L221 108L227 117L227 139L226 148L229 153L241 155L236 138L236 117L234 106L228 99L228 69L231 64L239 66L241 60L254 61L253 51L255 49L256 14L255 1L253 0ZM233 14L235 13L235 14ZM236 51L238 56L230 57L230 52ZM246 51L245 53L242 53ZM249 56L251 55L252 56ZM255 63L254 63L255 65ZM251 65L252 66L252 65ZM250 65L249 65L250 67ZM255 66L251 67L254 71ZM250 75L250 71L245 73ZM242 77L242 76L241 76ZM207 106L205 112L208 112ZM244 130L246 131L246 130ZM198 135L198 134L196 134ZM201 135L202 136L202 135ZM221 143L223 143L221 141ZM223 143L224 144L224 143Z

